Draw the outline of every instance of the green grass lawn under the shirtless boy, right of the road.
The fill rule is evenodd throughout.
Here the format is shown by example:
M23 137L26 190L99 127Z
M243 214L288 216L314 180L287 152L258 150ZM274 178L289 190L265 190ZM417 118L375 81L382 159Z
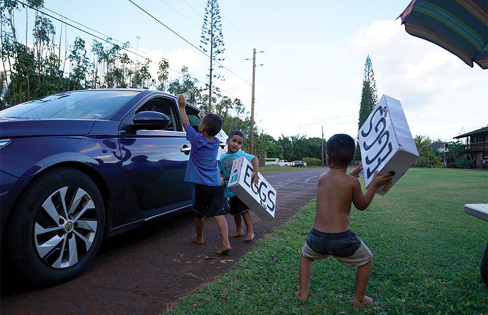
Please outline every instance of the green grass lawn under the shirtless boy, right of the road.
M374 255L366 292L374 305L352 306L355 270L334 258L314 262L307 301L292 297L313 200L166 314L488 314L480 276L488 223L464 212L486 202L486 171L412 168L368 209L353 208L351 230Z

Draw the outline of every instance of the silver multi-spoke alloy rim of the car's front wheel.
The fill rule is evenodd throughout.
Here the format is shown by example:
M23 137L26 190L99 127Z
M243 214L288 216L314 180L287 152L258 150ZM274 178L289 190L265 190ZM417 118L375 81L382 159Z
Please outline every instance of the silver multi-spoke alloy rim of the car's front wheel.
M35 216L34 243L41 261L56 269L78 263L95 240L98 220L93 198L65 186L47 197Z

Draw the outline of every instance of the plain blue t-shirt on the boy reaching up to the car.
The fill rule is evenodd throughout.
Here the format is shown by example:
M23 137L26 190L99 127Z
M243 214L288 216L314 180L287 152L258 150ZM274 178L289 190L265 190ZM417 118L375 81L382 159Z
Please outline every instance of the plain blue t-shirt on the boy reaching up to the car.
M192 125L186 127L186 139L190 141L191 151L186 166L185 182L207 186L221 186L218 168L218 147L220 141L213 137L205 138Z

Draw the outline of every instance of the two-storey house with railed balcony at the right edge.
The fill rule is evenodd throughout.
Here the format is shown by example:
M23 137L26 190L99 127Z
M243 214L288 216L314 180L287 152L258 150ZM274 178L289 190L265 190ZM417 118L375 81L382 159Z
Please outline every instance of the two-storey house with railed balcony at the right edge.
M488 126L481 129L467 132L453 139L463 139L463 154L467 154L468 160L473 161L472 167L481 167L481 159L488 156Z

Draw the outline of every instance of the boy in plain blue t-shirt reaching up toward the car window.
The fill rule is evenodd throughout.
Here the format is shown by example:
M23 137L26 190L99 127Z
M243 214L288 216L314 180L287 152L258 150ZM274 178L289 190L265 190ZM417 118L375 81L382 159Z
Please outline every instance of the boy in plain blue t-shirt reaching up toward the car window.
M226 202L217 161L220 141L214 137L222 128L222 118L215 114L206 115L198 125L198 132L190 124L185 110L185 98L178 97L179 115L186 130L186 139L191 143L190 157L186 167L185 182L192 183L193 209L197 234L191 240L203 244L204 216L217 222L222 246L217 252L227 255L231 246L227 220L224 217Z

